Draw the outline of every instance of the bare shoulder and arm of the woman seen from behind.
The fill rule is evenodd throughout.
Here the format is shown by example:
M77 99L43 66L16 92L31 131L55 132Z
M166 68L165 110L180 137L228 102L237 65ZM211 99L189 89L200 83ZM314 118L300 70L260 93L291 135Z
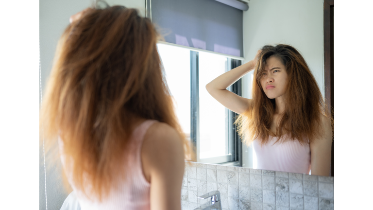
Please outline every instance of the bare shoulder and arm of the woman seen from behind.
M150 180L151 210L181 210L185 161L183 143L166 123L154 123L141 149L142 167Z

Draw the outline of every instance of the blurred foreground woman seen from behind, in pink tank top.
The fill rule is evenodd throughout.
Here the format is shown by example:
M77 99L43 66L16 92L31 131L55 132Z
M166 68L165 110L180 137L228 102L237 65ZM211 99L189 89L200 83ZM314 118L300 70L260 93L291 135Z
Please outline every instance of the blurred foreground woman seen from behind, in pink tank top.
M153 24L123 6L88 8L70 22L42 122L82 210L180 210L186 138Z

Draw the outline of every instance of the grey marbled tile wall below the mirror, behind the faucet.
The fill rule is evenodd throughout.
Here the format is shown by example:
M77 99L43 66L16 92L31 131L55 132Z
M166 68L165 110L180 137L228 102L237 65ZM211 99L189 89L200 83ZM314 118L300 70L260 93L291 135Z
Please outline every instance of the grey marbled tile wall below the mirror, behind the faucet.
M334 177L186 163L182 210L207 202L197 196L214 190L223 210L334 209Z

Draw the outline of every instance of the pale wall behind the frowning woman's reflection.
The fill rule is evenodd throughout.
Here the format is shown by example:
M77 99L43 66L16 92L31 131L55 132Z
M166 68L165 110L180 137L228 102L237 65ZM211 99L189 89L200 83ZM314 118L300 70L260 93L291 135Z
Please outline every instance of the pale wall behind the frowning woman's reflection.
M250 0L243 14L246 63L266 44L290 44L305 58L324 93L323 0ZM251 73L242 78L242 96L251 98ZM252 148L243 146L244 167L253 167Z

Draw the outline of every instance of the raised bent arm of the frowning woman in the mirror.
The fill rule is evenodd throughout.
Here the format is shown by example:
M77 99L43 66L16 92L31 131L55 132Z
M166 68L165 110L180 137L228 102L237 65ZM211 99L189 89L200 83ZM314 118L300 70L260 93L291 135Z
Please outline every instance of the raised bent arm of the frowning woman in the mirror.
M237 114L242 114L247 109L251 103L251 99L238 96L226 88L255 68L259 53L260 50L256 53L253 60L221 74L206 85L206 89L212 97L214 97L220 104Z

